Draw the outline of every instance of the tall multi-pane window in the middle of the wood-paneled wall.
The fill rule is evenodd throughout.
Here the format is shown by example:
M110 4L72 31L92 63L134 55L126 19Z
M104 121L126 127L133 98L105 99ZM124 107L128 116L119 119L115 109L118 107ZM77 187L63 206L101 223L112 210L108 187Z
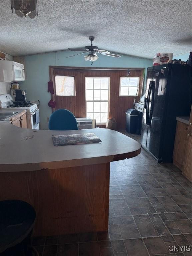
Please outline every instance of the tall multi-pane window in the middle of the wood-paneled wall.
M109 77L86 77L86 117L106 123L109 106Z

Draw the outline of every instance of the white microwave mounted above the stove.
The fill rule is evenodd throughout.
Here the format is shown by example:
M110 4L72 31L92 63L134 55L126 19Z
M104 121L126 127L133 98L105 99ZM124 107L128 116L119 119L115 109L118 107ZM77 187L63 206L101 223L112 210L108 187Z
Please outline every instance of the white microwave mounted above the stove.
M24 65L11 60L0 60L0 82L24 81Z

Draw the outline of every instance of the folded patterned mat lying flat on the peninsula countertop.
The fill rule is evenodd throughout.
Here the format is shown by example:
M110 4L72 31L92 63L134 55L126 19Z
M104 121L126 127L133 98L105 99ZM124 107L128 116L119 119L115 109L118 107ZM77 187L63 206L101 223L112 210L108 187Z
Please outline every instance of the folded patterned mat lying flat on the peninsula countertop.
M76 144L98 143L101 140L94 133L53 135L54 146L67 146Z

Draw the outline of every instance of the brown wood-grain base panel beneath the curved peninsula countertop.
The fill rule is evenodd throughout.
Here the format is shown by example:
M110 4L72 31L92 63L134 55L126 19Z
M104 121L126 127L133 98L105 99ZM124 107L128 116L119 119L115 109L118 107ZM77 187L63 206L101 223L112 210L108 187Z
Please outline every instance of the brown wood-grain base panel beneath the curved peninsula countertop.
M106 231L109 174L110 163L2 172L0 200L23 200L35 208L35 236Z

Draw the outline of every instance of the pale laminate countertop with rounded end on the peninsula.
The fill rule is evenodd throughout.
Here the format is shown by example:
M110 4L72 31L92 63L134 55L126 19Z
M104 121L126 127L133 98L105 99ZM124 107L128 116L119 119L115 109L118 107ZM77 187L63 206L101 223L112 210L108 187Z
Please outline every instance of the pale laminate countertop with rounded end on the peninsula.
M102 142L55 147L52 135L94 133ZM28 139L26 139L28 138ZM141 145L117 131L50 131L0 122L0 172L57 169L107 163L137 156Z

